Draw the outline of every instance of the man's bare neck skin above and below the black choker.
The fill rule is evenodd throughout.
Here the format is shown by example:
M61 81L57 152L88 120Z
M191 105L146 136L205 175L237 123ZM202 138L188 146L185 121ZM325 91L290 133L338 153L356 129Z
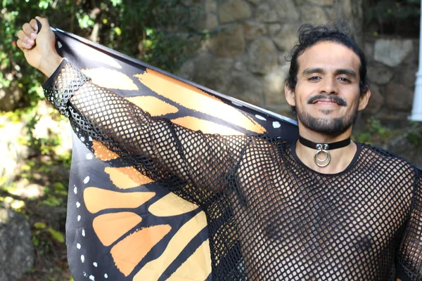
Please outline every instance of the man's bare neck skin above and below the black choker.
M303 129L299 129L299 133L302 138L307 138L309 141L313 141L314 143L335 143L350 138L351 130L335 136L324 135L316 132L311 133L309 130ZM305 145L302 145L299 141L296 142L296 154L298 155L300 161L302 161L310 169L323 174L337 174L344 171L347 166L349 166L350 162L352 162L356 151L357 145L353 142L343 148L329 150L331 162L327 166L321 167L314 162L316 149L308 148ZM324 155L321 155L321 157L323 156Z

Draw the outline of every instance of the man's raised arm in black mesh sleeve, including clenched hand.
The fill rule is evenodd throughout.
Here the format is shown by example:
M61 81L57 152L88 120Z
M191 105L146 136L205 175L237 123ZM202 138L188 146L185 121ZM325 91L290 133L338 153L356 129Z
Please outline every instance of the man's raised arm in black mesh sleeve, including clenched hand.
M69 117L72 126L196 204L206 204L234 181L234 170L250 137L207 135L151 117L128 100L92 84L62 60L54 48L49 22L37 19L43 25L41 31L36 34L35 20L23 25L18 46L28 63L49 77L43 84L46 97Z

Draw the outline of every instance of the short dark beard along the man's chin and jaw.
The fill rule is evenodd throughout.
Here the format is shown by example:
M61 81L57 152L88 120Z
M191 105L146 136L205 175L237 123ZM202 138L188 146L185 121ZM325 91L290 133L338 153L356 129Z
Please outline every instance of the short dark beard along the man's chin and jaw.
M312 131L317 133L324 133L327 135L340 135L350 129L353 126L354 122L356 122L358 109L357 107L345 117L340 118L316 118L309 115L307 112L303 112L301 109L298 110L298 120L303 124L303 126L307 127ZM330 113L328 110L326 112L323 111L326 115Z

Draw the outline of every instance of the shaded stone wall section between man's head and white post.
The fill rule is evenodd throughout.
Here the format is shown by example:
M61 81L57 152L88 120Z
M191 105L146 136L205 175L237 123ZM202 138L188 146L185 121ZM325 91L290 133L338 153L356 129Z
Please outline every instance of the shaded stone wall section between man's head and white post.
M371 100L365 115L404 120L413 104L418 71L418 40L365 38Z

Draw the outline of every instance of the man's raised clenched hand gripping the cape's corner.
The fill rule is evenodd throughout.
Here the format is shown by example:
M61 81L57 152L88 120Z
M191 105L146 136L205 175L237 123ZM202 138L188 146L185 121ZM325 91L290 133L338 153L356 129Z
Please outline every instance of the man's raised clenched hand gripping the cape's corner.
M56 36L50 29L46 18L36 17L41 22L39 31L37 21L32 19L18 31L18 47L25 54L27 63L50 77L56 70L62 58L56 51Z

